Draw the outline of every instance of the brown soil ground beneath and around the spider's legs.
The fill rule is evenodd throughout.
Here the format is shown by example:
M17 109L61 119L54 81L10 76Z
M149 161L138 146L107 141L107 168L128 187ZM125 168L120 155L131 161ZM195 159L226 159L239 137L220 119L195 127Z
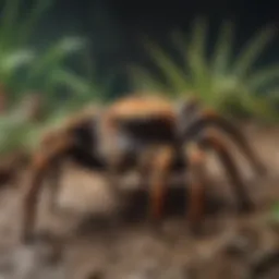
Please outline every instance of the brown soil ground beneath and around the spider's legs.
M210 157L215 183L208 185L209 199L222 203L215 203L218 210L206 217L202 235L189 231L179 206L186 201L183 189L170 194L169 207L177 207L177 214L169 210L160 231L144 216L113 222L118 203L101 175L69 162L58 213L48 210L45 191L38 217L38 230L48 230L56 238L24 246L19 243L19 229L28 173L20 189L7 185L0 196L0 279L279 278L279 225L270 220L270 206L279 201L279 128L251 125L244 130L268 167L268 175L259 178L235 150L256 211L235 211L231 187L216 158ZM136 211L144 213L144 193L130 201L133 207L125 213L133 217ZM54 258L57 247L62 254Z

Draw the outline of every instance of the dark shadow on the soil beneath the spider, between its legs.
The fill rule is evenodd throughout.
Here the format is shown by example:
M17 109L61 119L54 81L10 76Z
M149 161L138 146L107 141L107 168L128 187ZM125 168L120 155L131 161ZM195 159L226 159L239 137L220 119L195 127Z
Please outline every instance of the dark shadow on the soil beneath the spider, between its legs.
M209 190L209 189L208 189ZM106 233L112 228L125 228L126 226L142 223L148 220L149 195L148 187L125 190L124 205L111 216L87 215L81 221L76 232L78 234ZM167 220L173 217L186 220L187 214L187 190L181 183L174 183L167 189L162 219ZM217 196L206 191L205 196L205 216L216 216L231 208L230 203L223 196ZM153 220L150 220L153 222ZM117 227L113 227L117 225Z

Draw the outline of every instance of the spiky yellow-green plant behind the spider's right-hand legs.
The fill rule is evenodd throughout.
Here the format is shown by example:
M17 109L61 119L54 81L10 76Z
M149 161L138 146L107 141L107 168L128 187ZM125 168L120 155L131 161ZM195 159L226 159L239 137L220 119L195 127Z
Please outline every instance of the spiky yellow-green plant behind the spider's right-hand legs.
M274 119L276 113L263 92L278 80L279 64L259 70L253 66L277 34L277 28L263 28L238 56L233 56L233 24L226 22L208 58L207 26L205 20L198 19L186 38L181 33L173 34L173 43L181 54L180 64L147 39L145 47L162 78L145 69L133 66L132 80L135 87L160 90L173 98L195 93L205 104L222 112L235 113L239 110L245 114Z

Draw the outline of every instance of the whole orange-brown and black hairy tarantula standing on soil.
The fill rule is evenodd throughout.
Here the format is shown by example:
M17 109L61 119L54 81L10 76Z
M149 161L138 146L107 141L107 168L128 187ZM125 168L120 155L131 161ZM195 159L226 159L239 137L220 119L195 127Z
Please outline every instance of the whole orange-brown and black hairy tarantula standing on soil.
M44 177L51 171L53 182L57 181L59 166L65 157L72 157L84 167L105 171L111 179L111 185L118 184L119 174L126 169L138 168L142 175L148 174L150 215L155 220L159 220L162 215L166 180L174 161L183 157L185 169L193 174L189 187L189 218L196 227L204 213L203 198L207 183L205 153L213 149L232 182L240 208L252 209L253 203L244 189L227 141L220 134L208 131L210 126L229 134L256 172L265 171L239 129L215 111L203 109L196 99L182 102L177 110L177 106L163 98L130 96L107 108L74 116L64 126L50 132L34 155L31 187L24 198L23 241L27 242L32 238ZM52 187L56 193L57 182Z

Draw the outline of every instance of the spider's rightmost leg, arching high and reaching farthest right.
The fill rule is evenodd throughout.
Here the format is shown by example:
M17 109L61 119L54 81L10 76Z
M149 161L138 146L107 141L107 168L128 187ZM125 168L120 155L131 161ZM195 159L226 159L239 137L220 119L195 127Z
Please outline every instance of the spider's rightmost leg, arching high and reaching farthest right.
M242 149L247 157L255 172L258 174L266 173L266 167L263 165L256 153L253 150L252 145L245 135L236 128L231 121L227 120L222 116L213 110L204 110L198 117L196 117L191 123L189 123L183 132L183 138L185 141L191 140L204 129L209 126L216 126L219 130L229 134L233 142Z

